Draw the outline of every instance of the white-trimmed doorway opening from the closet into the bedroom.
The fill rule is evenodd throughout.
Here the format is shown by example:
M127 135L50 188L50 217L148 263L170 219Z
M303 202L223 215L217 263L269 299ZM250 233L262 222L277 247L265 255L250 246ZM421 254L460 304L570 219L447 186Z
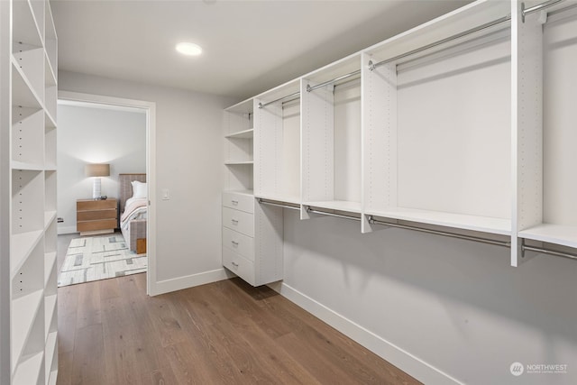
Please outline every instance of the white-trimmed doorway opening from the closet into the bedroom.
M154 139L155 139L155 104L151 102L141 101L141 100L133 100L133 99L124 99L124 98L117 98L117 97L110 97L110 96L98 96L98 95L90 95L90 94L81 94L81 93L74 93L68 91L60 91L59 92L59 105L62 105L62 108L67 107L67 111L83 111L88 117L91 114L95 114L96 111L100 111L103 116L105 116L101 120L101 125L90 124L89 119L83 120L81 117L77 121L72 121L74 124L80 125L87 125L88 131L85 133L87 138L86 141L97 142L98 146L84 146L85 151L79 151L77 149L76 153L75 150L72 149L69 152L74 153L74 155L69 156L69 154L62 154L62 159L60 163L66 164L67 167L73 164L72 168L67 169L68 173L76 173L77 175L72 175L69 177L66 175L67 179L71 179L74 181L76 178L76 182L72 183L72 188L66 188L64 191L58 191L58 195L62 194L62 198L66 196L66 199L59 199L59 217L61 215L68 215L69 220L66 221L66 216L64 220L66 221L66 225L60 224L60 228L62 229L59 234L70 233L70 229L74 228L74 233L78 237L78 233L76 232L76 228L78 226L78 231L81 232L81 235L95 235L94 237L84 238L86 241L78 241L78 246L86 246L88 247L87 243L97 243L96 246L92 246L93 251L96 248L103 248L106 251L106 255L110 256L113 255L114 252L110 252L110 250L114 250L117 248L121 252L132 252L133 258L125 258L118 253L118 256L115 257L118 261L126 261L130 263L132 266L130 268L133 269L126 269L126 274L130 274L133 272L138 272L139 261L148 261L148 265L145 267L147 271L147 294L151 295L153 289L151 289L151 282L155 281L155 239L156 239L156 212L154 205L151 205L151 202L154 202L155 197L155 153L154 153ZM74 108L72 108L74 107ZM96 115L95 115L96 116ZM113 122L113 118L116 119ZM109 119L109 120L106 120ZM67 119L67 122L70 124L70 121ZM77 123L78 122L78 123ZM111 127L102 128L106 126L106 123L110 122ZM103 125L104 124L104 125ZM142 128L144 125L144 132L138 133L138 127ZM115 127L115 129L113 128ZM122 128L125 128L122 131ZM132 127L132 128L131 128ZM112 129L112 133L110 132ZM67 129L68 130L68 129ZM134 131L136 130L136 131ZM133 133L133 138L131 142L131 133ZM142 138L137 138L137 136L142 135ZM76 142L78 142L78 147L82 147L81 143L83 139L81 137L76 136ZM140 144L139 144L140 143ZM85 143L86 144L86 143ZM142 154L142 150L134 151L130 150L131 146L140 146L144 147L144 154ZM74 142L67 143L66 147L74 147ZM99 151L86 151L86 149L90 148L99 148ZM59 149L60 153L60 149ZM139 159L142 157L143 159ZM65 163L66 162L66 163ZM86 166L83 165L86 163ZM143 164L142 164L143 163ZM95 178L89 178L90 171L88 169L95 169L94 166L103 166L105 171L102 175L106 176L106 178L101 178L102 181L98 181L98 189L96 190L96 181ZM86 168L86 169L85 169ZM142 170L144 168L144 170ZM62 164L58 165L59 171L59 178L60 178L60 170L65 169L62 167ZM87 174L85 174L85 170L87 170ZM138 215L140 216L133 216L131 215L131 222L130 225L133 225L133 229L138 230L138 254L136 252L136 239L134 239L134 250L130 250L130 238L127 234L125 234L124 230L123 233L114 233L114 234L105 234L104 236L96 236L98 233L106 233L109 232L107 228L112 227L112 225L104 225L103 221L110 221L112 222L113 219L98 219L93 222L93 218L99 218L102 216L103 218L106 216L111 216L110 213L112 212L112 207L114 206L116 218L114 221L117 221L118 225L116 227L122 227L123 222L120 221L121 217L124 219L124 228L127 228L129 225L129 221L125 220L126 217L123 217L123 213L120 211L120 196L123 195L120 191L120 179L125 181L125 175L122 178L119 178L119 174L130 174L130 176L137 176L137 181L144 181L146 182L145 185L145 192L140 194L139 197L143 197L141 202L141 208ZM91 175L91 174L90 174ZM109 178L107 176L110 176ZM140 175L140 176L139 176ZM98 177L99 175L96 175ZM62 176L64 178L64 176ZM131 177L132 178L132 177ZM142 179L144 178L144 179ZM94 188L93 188L94 184ZM130 186L130 182L129 182ZM142 189L141 186L134 186L133 188ZM78 197L70 198L68 195L71 194L69 190L76 189L76 194ZM86 190L86 191L85 191ZM78 192L79 191L79 192ZM96 192L97 191L97 192ZM134 190L134 192L136 189ZM96 194L98 197L94 196ZM81 197L80 197L81 196ZM86 197L89 196L89 197ZM111 198L106 199L103 196L109 196ZM86 197L86 199L84 199ZM132 197L132 196L128 196ZM134 196L136 197L136 196ZM126 203L126 194L124 194L124 199L122 201L122 208L124 209ZM64 202L61 203L60 202ZM70 203L71 202L71 203ZM71 205L74 205L74 212L72 214L70 211ZM60 207L62 206L62 207ZM94 206L94 207L92 207ZM110 207L108 207L110 206ZM81 209L78 207L82 207ZM78 211L79 210L79 211ZM131 213L132 214L132 213ZM84 222L86 219L86 223ZM112 222L114 223L114 222ZM80 224L80 225L78 225ZM97 225L96 225L97 224ZM98 228L93 230L90 226L95 225L99 226L102 225L106 227L106 229ZM95 227L96 228L96 227ZM136 230L133 231L133 235L136 234ZM63 241L59 240L59 247L64 246L64 243L68 243L69 240L72 238L70 235L62 236L60 235L59 238L63 238ZM74 240L76 241L76 240ZM80 244L83 243L83 244ZM101 245L100 243L106 243L105 245ZM118 243L115 245L114 243ZM129 250L122 250L123 246L120 245L121 243L125 243L126 247ZM72 246L72 244L70 244ZM76 247L77 244L75 243L74 246ZM68 248L68 246L66 246ZM142 248L145 248L145 257L142 258ZM111 248L111 249L109 249ZM78 250L88 250L85 249L78 249ZM60 254L60 252L59 252ZM94 254L96 255L96 254ZM127 254L128 257L130 255ZM79 260L82 260L83 257L79 257ZM114 260L114 259L113 259ZM107 261L108 262L108 261ZM61 262L60 262L61 263ZM74 261L67 261L67 263L74 263ZM96 261L96 266L99 265L99 261ZM96 272L96 274L101 274L103 271L111 270L105 267L104 262L102 262L102 269ZM119 262L120 263L120 262ZM142 262L141 262L142 263ZM112 264L107 263L107 266L112 266ZM59 267L60 269L60 267ZM123 275L124 270L120 269L120 272L115 272L115 274ZM87 274L86 271L90 271L90 274L94 274L93 270L84 270L83 273ZM140 270L142 271L142 269ZM110 271L108 271L110 272ZM78 275L80 273L78 272ZM70 275L70 274L69 274ZM110 277L110 275L108 276ZM114 275L112 276L114 277ZM81 280L78 280L81 281Z

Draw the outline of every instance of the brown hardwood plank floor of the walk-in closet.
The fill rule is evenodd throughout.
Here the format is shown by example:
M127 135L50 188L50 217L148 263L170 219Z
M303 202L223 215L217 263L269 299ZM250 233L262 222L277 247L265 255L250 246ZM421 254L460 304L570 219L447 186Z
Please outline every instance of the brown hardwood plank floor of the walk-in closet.
M59 385L419 383L266 287L145 292L145 274L59 289Z

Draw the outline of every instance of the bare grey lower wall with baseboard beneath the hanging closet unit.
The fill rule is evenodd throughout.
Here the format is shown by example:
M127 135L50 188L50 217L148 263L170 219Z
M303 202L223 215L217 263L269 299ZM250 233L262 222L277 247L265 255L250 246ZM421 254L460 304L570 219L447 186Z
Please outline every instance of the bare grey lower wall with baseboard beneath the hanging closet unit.
M577 383L577 263L285 210L283 295L425 383ZM567 374L509 371L567 364ZM453 378L453 380L451 380Z

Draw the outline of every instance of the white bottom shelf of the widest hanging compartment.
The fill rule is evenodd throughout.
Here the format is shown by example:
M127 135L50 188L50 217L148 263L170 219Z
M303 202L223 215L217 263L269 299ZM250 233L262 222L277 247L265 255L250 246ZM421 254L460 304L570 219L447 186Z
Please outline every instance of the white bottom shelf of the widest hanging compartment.
M489 216L453 214L441 211L428 211L404 207L392 207L385 210L367 209L365 214L426 225L453 227L488 234L511 234L511 221L509 219L493 218Z

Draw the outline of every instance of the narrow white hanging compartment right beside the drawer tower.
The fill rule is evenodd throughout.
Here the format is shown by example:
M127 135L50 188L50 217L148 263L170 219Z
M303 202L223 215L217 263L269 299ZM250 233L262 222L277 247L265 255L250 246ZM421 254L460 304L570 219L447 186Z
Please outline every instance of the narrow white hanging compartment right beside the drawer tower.
M256 197L300 202L299 89L295 80L255 98Z

